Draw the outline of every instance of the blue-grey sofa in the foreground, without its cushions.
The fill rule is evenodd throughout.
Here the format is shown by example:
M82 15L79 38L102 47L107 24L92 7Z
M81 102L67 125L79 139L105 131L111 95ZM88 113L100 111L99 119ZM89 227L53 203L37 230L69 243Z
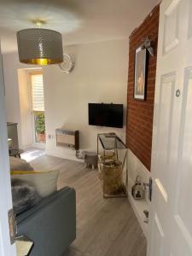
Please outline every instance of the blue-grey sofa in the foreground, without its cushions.
M61 256L76 238L76 196L69 187L16 217L17 236L34 241L30 256Z

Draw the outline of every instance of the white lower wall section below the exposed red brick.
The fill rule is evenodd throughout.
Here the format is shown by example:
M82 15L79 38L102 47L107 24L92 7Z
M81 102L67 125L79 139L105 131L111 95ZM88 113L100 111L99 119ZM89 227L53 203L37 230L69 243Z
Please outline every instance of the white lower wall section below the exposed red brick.
M135 200L131 195L131 187L135 183L137 175L142 177L143 183L148 183L148 179L150 177L150 172L148 169L143 166L143 163L137 159L137 156L128 150L128 195L129 201L131 203L131 207L133 208L138 222L143 229L143 233L148 240L149 227L148 224L144 223L145 215L143 213L144 210L149 210L150 201L148 201L148 189L145 191L145 199L141 201Z

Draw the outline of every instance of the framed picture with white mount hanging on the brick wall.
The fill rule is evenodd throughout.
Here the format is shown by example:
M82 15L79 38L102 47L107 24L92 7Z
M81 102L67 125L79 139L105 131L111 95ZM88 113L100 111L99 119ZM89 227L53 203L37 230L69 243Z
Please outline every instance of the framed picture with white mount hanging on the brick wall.
M136 49L134 98L142 101L146 100L147 54L147 49Z

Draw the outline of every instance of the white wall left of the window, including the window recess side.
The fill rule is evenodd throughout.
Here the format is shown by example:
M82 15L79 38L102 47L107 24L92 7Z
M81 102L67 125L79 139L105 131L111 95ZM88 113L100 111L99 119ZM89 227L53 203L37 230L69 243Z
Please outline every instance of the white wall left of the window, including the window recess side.
M20 63L18 53L3 55L7 121L18 123L20 148L28 148L33 143L30 100L27 96L28 68L34 68L34 66Z

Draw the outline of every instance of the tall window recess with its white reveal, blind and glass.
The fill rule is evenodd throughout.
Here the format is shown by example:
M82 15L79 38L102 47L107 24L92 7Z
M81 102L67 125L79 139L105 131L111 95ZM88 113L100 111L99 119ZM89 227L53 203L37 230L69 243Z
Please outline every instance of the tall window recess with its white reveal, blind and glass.
M21 148L45 148L44 79L42 68L19 69L18 81Z

